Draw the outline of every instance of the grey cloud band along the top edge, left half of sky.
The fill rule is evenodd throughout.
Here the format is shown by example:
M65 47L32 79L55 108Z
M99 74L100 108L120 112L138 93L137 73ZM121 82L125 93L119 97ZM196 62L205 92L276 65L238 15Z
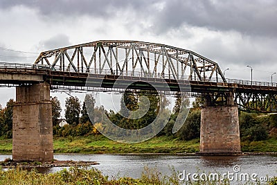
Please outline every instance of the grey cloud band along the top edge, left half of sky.
M12 8L14 6L27 6L38 9L43 15L62 14L62 15L93 15L95 17L109 17L116 11L126 8L137 8L141 10L152 3L153 0L132 1L132 0L42 0L42 1L21 1L3 0L0 1L1 8Z

